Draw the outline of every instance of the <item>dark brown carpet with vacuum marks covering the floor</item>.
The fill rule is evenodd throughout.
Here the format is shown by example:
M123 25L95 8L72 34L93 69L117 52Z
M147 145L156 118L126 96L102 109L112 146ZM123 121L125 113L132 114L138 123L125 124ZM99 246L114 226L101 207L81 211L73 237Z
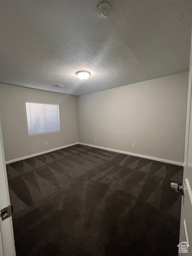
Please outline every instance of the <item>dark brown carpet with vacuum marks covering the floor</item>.
M17 256L178 255L183 167L75 145L7 174Z

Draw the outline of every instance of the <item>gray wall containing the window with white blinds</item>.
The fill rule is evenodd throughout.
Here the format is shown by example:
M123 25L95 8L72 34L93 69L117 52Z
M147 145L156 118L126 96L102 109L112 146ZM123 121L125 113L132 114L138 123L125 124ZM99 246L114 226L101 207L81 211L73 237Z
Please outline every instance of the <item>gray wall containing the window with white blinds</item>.
M29 136L25 100L59 103L61 131ZM74 96L0 84L6 161L78 142L76 100Z

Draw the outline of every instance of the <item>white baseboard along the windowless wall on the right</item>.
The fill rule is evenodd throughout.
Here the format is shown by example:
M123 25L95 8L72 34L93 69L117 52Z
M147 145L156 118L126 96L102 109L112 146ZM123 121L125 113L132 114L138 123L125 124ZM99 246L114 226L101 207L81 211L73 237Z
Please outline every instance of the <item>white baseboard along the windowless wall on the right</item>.
M113 152L118 152L118 153L122 153L122 154L126 154L126 155L131 155L131 156L138 156L138 157L142 157L142 158L147 158L147 159L151 159L151 160L155 160L155 161L159 161L159 162L164 162L164 163L168 163L168 164L175 164L175 165L179 165L179 166L183 166L183 165L184 165L184 164L181 163L181 162L171 161L171 160L162 159L162 158L157 158L157 157L153 157L153 156L144 156L144 155L135 154L135 153L127 152L127 151L122 151L122 150L117 150L117 149L112 149L112 148L104 148L104 147L95 146L95 145L90 145L90 144L81 143L81 142L79 142L79 144L80 144L80 145L89 146L89 147L94 147L94 148L101 148L101 149L105 149L105 150L109 150L109 151L113 151Z

